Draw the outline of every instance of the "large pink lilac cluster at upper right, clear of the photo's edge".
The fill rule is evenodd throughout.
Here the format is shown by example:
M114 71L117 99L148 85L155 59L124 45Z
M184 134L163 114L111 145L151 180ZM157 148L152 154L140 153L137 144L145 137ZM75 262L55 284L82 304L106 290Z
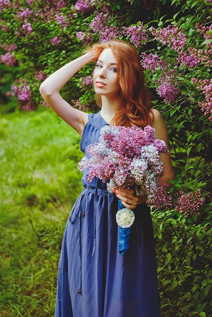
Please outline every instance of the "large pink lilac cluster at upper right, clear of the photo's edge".
M152 35L164 45L176 52L181 52L187 43L186 35L179 28L168 25L166 28L155 29L152 27Z

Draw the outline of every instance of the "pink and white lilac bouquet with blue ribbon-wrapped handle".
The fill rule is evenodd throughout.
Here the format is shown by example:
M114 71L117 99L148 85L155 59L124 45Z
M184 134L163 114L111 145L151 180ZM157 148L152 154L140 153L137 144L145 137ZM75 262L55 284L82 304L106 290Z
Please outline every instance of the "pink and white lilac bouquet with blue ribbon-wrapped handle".
M90 157L83 157L78 164L80 171L89 168L88 181L99 177L112 188L133 188L136 195L152 197L158 188L162 171L159 153L168 153L163 140L155 139L151 126L144 129L133 126L105 126L100 130L99 142L88 146ZM120 210L116 214L119 228L119 252L123 255L129 249L130 226L135 215L124 208L118 200Z

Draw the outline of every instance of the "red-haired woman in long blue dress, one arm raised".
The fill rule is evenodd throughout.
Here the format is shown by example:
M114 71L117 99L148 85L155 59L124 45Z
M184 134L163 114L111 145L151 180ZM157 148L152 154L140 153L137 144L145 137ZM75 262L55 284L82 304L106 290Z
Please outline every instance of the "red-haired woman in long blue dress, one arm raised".
M71 107L60 89L84 65L95 62L94 89L100 112L88 114ZM168 145L160 113L150 108L149 94L137 51L122 41L96 44L66 64L41 84L40 93L49 106L82 136L81 150L98 142L105 125L150 124L157 139ZM161 154L159 183L174 178L170 155ZM159 316L155 248L146 196L133 189L114 189L95 178L82 177L84 189L67 221L58 271L56 317L149 317ZM118 252L115 220L118 199L134 210L130 249Z

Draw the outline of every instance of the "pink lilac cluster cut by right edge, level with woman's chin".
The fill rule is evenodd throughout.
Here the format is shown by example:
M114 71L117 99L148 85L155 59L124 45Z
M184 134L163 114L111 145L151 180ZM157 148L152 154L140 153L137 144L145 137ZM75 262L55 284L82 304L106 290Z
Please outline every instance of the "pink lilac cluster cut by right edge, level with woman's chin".
M209 120L212 121L212 79L210 80L197 80L192 78L191 82L197 86L197 89L201 89L205 95L203 101L198 102L203 113L208 116Z

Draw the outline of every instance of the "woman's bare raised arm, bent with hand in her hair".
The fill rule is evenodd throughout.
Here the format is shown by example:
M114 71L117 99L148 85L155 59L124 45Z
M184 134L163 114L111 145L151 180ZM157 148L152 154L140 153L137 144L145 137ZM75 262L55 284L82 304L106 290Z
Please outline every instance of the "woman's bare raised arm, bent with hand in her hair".
M74 109L61 97L59 91L81 67L92 62L94 57L95 51L89 51L55 71L40 85L40 94L47 104L79 135L88 122L88 114Z

